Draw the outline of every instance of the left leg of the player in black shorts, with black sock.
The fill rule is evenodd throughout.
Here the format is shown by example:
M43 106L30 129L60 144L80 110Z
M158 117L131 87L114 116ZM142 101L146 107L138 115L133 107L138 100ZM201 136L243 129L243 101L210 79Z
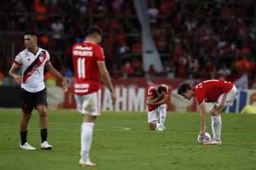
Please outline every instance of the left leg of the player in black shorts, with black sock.
M21 88L20 91L20 99L21 99L21 109L23 112L23 116L20 122L20 148L26 150L34 150L35 147L32 147L26 141L26 136L28 134L28 122L32 116L33 110L33 95L25 91L25 89Z

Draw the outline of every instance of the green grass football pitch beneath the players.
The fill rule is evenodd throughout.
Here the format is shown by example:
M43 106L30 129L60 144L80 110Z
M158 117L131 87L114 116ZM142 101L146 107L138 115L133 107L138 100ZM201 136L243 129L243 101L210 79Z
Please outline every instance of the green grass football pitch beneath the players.
M21 150L20 110L0 110L0 169L256 169L256 115L223 114L222 146L200 145L199 113L167 113L165 132L148 130L147 114L105 112L98 117L90 151L98 167L79 167L82 116L48 112L48 142L40 149L38 115L33 111L28 142ZM211 133L211 118L207 114Z

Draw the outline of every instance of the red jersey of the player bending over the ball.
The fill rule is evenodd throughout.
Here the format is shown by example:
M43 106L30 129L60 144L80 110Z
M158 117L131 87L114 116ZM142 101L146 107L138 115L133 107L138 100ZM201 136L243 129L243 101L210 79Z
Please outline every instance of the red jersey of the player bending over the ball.
M197 84L193 91L198 105L201 105L203 101L206 103L218 101L219 96L228 93L233 86L234 84L229 81L209 80Z

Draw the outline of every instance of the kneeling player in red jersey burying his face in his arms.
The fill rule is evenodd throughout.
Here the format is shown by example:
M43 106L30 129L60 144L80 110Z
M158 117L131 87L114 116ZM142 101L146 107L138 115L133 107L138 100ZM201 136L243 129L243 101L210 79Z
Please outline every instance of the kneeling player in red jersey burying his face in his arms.
M165 130L166 101L169 93L168 86L165 84L153 84L147 88L146 97L148 100L148 124L150 130Z

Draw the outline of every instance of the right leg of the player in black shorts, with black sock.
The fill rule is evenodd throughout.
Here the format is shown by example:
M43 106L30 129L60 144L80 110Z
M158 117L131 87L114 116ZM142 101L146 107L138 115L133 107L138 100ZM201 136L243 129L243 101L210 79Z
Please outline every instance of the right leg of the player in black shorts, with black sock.
M47 89L39 91L35 94L35 108L37 109L39 115L39 127L41 135L41 149L52 149L52 145L47 142L48 136L48 122L47 122Z

